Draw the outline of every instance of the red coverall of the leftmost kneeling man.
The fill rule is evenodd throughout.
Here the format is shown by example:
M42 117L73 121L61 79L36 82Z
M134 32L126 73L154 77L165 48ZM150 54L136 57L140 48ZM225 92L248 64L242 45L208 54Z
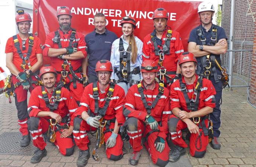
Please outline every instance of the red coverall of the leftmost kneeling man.
M46 89L45 91L47 92ZM52 93L53 92L50 92L50 93L47 92L49 99L52 97ZM70 116L71 118L70 125L73 126L73 115L74 115L73 113L75 113L77 108L78 108L78 105L70 95L69 90L62 87L61 99L60 99L58 108L53 112L59 114L62 118L66 116ZM46 103L43 100L41 86L35 88L31 93L27 111L29 112L29 116L30 116L30 119L27 121L27 124L28 124L28 129L33 138L33 144L34 146L38 147L40 150L43 150L44 147L46 146L46 142L44 142L44 139L43 139L43 134L48 132L49 119L51 119L51 117L49 116L37 117L37 114L40 111L50 111L50 109L46 107ZM66 123L61 122L59 124L63 126ZM55 126L55 129L57 129L56 126ZM56 131L56 140L54 144L58 147L59 151L63 155L67 155L67 156L72 155L75 147L72 138L60 138L60 135L61 133L59 131Z

